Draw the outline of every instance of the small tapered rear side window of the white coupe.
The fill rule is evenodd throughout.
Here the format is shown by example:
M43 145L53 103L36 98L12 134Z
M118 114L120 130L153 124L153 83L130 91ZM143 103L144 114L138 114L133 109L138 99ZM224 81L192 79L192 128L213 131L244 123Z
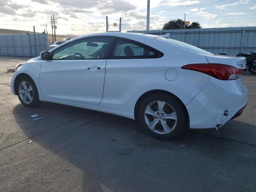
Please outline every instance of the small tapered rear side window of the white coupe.
M116 40L112 53L112 57L117 59L159 58L161 56L161 52L154 48L125 39Z

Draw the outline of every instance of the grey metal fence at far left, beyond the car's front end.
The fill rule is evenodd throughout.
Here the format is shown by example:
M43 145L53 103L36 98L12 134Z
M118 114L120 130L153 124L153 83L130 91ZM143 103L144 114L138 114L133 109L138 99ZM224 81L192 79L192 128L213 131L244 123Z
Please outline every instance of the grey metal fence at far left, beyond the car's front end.
M0 35L0 55L38 56L48 50L47 34Z

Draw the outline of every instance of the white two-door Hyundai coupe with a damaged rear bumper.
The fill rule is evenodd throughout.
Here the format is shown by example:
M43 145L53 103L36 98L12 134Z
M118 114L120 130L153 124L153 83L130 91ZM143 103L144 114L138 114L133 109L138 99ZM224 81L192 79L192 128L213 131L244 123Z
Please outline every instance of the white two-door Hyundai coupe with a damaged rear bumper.
M248 102L245 67L243 57L166 37L100 33L18 64L11 89L24 106L46 101L116 114L166 140L239 116Z

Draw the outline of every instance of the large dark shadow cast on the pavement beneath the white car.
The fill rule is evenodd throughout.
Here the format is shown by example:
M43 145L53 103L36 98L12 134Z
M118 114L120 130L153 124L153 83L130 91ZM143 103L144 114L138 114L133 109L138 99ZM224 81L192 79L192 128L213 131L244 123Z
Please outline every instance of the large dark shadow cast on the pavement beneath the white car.
M44 119L34 121L32 114ZM255 176L255 146L242 138L256 130L254 125L234 120L219 135L216 130L193 130L177 140L160 141L134 120L60 104L18 104L13 116L26 138L83 172L82 184L77 184L83 191L244 191L256 186L249 177ZM228 137L231 132L235 136ZM37 165L31 166L37 172ZM63 178L76 174L62 166Z

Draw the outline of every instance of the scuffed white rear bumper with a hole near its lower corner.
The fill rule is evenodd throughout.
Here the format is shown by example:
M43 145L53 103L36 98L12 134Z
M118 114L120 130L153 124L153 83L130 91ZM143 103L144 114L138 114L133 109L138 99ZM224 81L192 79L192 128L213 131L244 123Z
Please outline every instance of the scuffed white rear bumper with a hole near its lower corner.
M242 80L222 81L211 77L187 105L190 128L216 128L242 114L248 90Z

